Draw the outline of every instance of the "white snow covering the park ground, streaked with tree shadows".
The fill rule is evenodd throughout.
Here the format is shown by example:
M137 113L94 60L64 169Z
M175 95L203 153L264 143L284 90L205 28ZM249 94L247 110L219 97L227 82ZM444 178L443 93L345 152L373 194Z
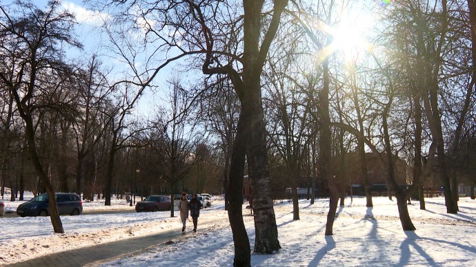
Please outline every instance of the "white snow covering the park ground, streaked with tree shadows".
M7 201L12 212L21 203ZM346 198L337 210L333 235L326 236L328 199L299 201L299 217L292 220L292 203L275 203L281 250L251 255L252 266L476 266L476 200L462 197L459 213L447 214L443 197L426 198L408 206L417 231L403 231L397 205L388 197L374 197L373 209L364 197ZM125 200L83 202L84 211L130 211ZM244 208L248 203L244 204ZM252 248L253 217L244 209ZM178 216L178 212L175 216ZM104 213L61 216L64 234L52 233L49 217L0 217L0 265L25 261L48 253L92 246L164 231L180 231L179 217L170 212ZM191 230L192 222L187 222ZM234 247L224 201L213 198L201 211L197 233L146 251L102 262L101 266L232 266Z

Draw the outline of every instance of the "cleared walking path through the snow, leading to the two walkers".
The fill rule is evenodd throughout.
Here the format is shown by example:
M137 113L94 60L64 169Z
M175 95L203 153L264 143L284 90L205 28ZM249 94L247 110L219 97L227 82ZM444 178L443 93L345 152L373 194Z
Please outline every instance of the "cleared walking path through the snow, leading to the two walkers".
M211 228L212 226L217 225L217 223L219 222L212 220L199 221L197 233L207 231L207 228ZM228 224L223 224L223 222L221 222L221 226L227 225ZM110 259L115 259L128 254L140 253L150 246L166 245L166 242L169 242L172 239L181 239L186 236L187 235L183 235L181 232L181 228L177 228L173 231L167 231L155 235L132 237L115 242L52 253L43 257L21 261L16 264L9 264L8 266L97 266L103 262L109 261Z

